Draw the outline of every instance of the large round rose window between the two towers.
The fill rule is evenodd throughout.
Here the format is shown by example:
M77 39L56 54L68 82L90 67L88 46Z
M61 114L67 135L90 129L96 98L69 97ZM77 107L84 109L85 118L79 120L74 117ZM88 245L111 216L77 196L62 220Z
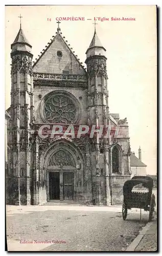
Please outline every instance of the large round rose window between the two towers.
M79 115L77 100L66 92L53 92L43 99L44 121L48 123L76 123Z

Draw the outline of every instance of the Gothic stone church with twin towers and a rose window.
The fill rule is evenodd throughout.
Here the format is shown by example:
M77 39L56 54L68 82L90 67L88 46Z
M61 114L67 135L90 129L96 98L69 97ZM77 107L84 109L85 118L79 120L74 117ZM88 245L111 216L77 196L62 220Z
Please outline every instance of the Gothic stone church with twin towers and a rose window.
M35 62L21 28L11 44L11 106L8 119L6 202L115 205L130 178L126 118L108 104L106 49L96 33L86 50L86 69L58 28ZM118 88L117 88L118 90ZM117 136L57 135L41 138L42 125L113 127Z

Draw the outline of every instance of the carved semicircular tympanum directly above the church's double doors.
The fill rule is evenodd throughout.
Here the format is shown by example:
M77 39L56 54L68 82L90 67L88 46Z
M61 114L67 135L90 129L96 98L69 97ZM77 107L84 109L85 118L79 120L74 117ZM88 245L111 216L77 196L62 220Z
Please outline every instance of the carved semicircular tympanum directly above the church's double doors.
M67 152L60 150L56 152L49 161L49 166L55 165L75 166L75 161Z

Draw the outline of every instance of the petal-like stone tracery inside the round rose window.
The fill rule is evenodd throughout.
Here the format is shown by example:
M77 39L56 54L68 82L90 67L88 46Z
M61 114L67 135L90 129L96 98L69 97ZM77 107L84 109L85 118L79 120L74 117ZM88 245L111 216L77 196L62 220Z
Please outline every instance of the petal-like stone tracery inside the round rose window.
M71 123L76 119L76 106L72 99L62 95L52 95L44 106L45 119L52 123Z

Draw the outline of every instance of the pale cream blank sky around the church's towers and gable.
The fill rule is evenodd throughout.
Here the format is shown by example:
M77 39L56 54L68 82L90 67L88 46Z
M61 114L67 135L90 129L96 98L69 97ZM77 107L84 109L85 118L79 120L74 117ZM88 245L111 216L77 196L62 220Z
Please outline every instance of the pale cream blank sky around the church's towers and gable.
M56 34L57 17L84 17L82 21L64 20L60 24L62 36L84 63L94 35L94 17L97 19L96 31L106 49L110 113L119 113L121 119L127 117L131 150L138 157L141 146L147 174L156 175L156 7L6 6L6 109L10 106L11 44L19 30L20 13L22 29L32 45L33 61ZM101 22L99 17L109 20Z

